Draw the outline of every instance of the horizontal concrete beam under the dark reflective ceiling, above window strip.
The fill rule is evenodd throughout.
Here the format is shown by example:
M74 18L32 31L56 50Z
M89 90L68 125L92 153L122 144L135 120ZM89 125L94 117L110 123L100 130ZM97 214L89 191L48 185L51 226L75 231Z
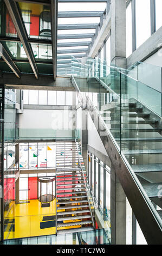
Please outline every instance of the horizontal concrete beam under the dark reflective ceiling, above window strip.
M74 92L70 77L56 77L56 81L54 81L53 76L40 76L36 80L33 75L22 74L19 79L13 74L5 73L0 78L0 83L12 89L66 90Z

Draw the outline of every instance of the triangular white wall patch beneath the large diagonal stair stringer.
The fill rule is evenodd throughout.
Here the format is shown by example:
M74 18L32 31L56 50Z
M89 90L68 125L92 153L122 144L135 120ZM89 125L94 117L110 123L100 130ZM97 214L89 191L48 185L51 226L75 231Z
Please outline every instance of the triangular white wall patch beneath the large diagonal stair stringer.
M107 152L100 139L99 133L88 113L88 144L107 156Z

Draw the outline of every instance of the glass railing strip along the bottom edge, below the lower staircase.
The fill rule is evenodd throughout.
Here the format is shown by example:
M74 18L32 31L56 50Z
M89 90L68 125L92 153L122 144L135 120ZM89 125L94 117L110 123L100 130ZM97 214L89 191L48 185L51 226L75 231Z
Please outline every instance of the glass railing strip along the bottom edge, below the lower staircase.
M104 229L4 240L4 245L109 245Z

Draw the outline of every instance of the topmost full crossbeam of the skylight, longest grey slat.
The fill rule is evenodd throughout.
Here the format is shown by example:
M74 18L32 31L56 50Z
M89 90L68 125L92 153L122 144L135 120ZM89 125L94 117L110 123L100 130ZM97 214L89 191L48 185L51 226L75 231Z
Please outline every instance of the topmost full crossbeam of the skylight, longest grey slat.
M58 18L100 17L103 11L60 11Z

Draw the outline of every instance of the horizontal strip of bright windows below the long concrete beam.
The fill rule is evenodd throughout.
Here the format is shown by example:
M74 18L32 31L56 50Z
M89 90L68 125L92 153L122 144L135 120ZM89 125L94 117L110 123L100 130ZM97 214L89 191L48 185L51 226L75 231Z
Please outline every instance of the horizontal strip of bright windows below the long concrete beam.
M73 105L73 92L53 90L23 90L25 105Z

